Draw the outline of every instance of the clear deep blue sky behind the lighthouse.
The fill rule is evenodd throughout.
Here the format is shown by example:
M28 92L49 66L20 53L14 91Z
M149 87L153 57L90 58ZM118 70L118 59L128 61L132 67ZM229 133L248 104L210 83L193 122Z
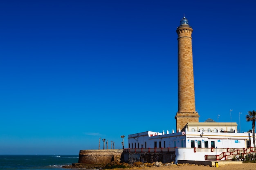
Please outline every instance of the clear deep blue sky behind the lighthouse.
M0 154L78 154L175 130L177 26L193 27L199 120L256 110L256 2L0 2ZM229 110L231 112L231 117ZM101 148L103 142L101 141ZM109 147L110 148L110 145Z

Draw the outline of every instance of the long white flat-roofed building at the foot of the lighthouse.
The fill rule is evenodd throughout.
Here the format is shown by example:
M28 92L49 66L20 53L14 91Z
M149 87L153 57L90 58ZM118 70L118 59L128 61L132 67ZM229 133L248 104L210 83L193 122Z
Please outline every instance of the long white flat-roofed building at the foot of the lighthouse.
M217 124L217 125L215 125ZM252 148L252 133L236 132L237 124L196 122L188 123L185 131L140 132L128 135L130 152L175 150L175 163L178 160L223 160L232 159L240 153L255 152ZM214 156L207 157L208 155Z

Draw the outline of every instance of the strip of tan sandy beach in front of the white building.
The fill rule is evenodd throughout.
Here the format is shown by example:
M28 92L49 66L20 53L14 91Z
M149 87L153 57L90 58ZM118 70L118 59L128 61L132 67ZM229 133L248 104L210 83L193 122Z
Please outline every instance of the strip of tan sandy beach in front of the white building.
M184 165L184 166L161 166L154 168L138 168L150 170L256 170L256 163L243 163L243 164L227 164L221 165L218 168L210 166L197 166L197 165ZM119 169L127 170L127 169Z

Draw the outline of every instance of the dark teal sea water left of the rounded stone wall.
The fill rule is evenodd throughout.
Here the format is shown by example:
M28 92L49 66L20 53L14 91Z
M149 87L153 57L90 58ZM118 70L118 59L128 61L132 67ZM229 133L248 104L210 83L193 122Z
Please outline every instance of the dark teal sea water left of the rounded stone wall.
M68 170L62 166L78 159L79 155L0 155L0 170Z

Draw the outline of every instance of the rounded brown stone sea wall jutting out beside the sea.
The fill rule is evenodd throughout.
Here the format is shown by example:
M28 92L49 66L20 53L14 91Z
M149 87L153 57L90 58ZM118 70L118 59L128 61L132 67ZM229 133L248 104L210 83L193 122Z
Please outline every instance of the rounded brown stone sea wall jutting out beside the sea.
M78 163L102 164L111 161L122 162L122 149L80 150Z

